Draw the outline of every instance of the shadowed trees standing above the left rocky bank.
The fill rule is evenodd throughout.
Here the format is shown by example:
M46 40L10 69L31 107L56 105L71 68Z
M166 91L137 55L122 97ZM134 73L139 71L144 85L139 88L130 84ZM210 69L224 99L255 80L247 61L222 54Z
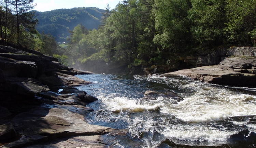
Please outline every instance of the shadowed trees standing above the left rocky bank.
M37 30L33 0L0 0L0 45L21 47L53 55L61 54L61 48L51 34ZM67 59L67 57L66 57Z

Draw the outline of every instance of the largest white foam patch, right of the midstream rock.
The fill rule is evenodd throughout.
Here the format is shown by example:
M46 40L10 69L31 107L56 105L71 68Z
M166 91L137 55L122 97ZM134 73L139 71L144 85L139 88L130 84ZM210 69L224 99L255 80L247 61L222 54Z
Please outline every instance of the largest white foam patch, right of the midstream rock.
M179 102L175 108L172 106L164 107L163 113L173 113L187 122L203 122L212 120L221 120L227 117L255 115L255 96L252 95L231 95L221 92L212 96L199 94L184 98L184 101ZM253 102L250 102L250 101Z

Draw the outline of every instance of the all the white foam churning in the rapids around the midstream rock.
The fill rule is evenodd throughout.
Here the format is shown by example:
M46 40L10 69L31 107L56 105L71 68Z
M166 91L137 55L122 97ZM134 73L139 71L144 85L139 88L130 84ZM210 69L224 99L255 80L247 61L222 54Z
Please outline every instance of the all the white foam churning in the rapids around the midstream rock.
M200 85L195 85L200 87ZM190 86L191 87L191 86ZM166 103L166 98L158 97L160 101L157 104L143 104L138 105L136 98L120 97L119 94L100 96L101 101L105 105L106 109L113 113L128 112L145 112L152 111L157 108L161 109L161 113L172 114L177 119L181 119L189 123L198 123L205 121L223 120L233 116L255 115L255 96L253 95L232 95L225 90L208 89L206 87L200 90L192 96L184 98L184 101L178 102L178 104ZM205 92L206 91L206 92ZM106 97L107 96L107 97ZM163 125L159 130L154 127L154 121L151 118L142 119L136 117L129 121L129 131L133 137L141 137L141 133L153 130L158 130L161 134L169 138L176 138L179 140L189 141L226 141L230 135L237 133L238 131L231 131L222 129L216 129L213 127L203 125ZM235 122L236 125L242 125L244 122ZM255 125L251 127L255 131Z

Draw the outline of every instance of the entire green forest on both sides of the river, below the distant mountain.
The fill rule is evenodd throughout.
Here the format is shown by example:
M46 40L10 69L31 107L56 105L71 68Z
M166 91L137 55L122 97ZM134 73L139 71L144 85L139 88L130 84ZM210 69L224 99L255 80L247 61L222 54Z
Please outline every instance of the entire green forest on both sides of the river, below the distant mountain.
M17 1L27 2L30 7ZM186 59L207 55L220 47L256 44L256 0L123 0L112 10L106 6L98 29L85 27L83 17L81 22L76 21L74 29L69 28L69 46L65 49L48 32L40 34L35 30L40 18L30 11L30 2L0 2L2 44L26 46L83 70L90 70L92 65L98 69L103 69L100 65L108 69L122 67L125 73L138 73L138 68L154 65L177 68ZM99 19L98 12L88 13ZM63 23L76 19L58 16ZM54 19L57 17L50 20Z

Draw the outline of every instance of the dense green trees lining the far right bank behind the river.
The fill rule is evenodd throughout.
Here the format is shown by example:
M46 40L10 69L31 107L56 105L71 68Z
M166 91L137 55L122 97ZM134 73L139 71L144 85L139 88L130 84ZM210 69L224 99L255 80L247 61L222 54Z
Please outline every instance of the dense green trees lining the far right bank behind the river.
M132 71L255 39L256 0L124 0L106 7L98 30L76 26L68 50L73 64L104 60Z

